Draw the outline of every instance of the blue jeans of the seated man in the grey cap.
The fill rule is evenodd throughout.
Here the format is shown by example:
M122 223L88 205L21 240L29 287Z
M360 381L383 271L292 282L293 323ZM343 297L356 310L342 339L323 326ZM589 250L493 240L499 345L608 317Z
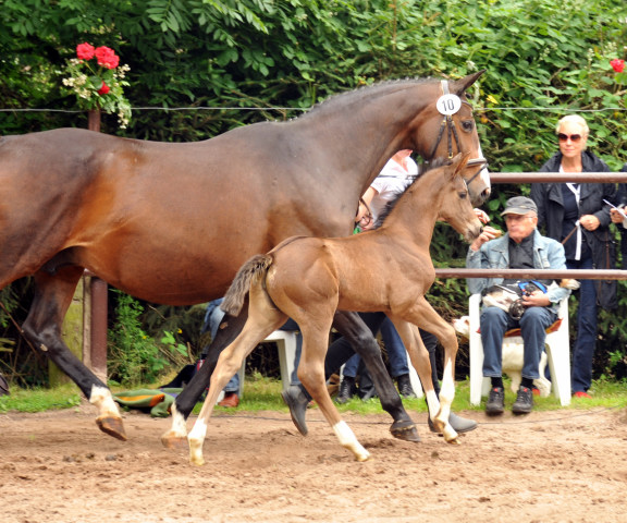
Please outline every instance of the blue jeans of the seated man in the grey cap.
M499 307L484 307L481 312L481 343L483 344L483 376L503 376L503 338L509 329L520 327L524 342L522 377L538 379L540 356L544 350L546 328L557 314L546 307L528 307L519 321Z

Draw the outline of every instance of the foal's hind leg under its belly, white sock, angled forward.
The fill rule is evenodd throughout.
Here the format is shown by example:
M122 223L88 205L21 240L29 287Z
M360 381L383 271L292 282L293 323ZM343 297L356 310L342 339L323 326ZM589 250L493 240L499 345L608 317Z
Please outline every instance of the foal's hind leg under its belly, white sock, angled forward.
M298 364L298 379L318 403L322 414L324 414L340 440L340 445L353 452L357 461L368 460L370 453L359 443L351 427L342 419L327 389L324 355L327 354L331 325L324 328L298 323L298 326L303 332L303 352Z

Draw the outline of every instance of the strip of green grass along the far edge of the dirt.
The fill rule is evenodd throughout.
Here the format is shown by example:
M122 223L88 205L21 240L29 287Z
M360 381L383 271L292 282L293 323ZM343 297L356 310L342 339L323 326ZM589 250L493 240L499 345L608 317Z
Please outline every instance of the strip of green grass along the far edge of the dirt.
M135 387L143 388L158 388L156 384L147 384ZM124 390L123 387L112 387L113 391ZM577 410L577 409L592 409L592 408L625 408L627 406L627 382L625 381L610 381L598 380L594 381L590 390L592 399L578 400L573 399L569 406L563 408L560 401L551 396L549 398L534 398L534 410L537 411L553 411L553 410ZM505 387L505 404L511 405L514 402L515 394L509 390L508 385ZM82 394L74 385L64 385L54 389L17 389L11 388L11 396L0 397L0 413L11 411L16 412L42 412L49 410L71 409L76 406L82 401ZM427 412L427 405L423 399L407 399L403 400L405 408L414 412ZM483 404L472 406L469 402L469 385L468 381L458 381L455 401L453 402L454 411L482 411ZM340 412L353 412L364 415L381 414L381 403L378 399L369 401L361 401L357 398L352 399L343 405L337 405ZM200 404L194 409L194 413L198 413ZM278 379L270 379L255 374L254 376L246 376L244 382L244 394L238 409L223 409L216 408L217 412L233 413L247 411L278 411L287 412L287 408L281 399L281 381Z

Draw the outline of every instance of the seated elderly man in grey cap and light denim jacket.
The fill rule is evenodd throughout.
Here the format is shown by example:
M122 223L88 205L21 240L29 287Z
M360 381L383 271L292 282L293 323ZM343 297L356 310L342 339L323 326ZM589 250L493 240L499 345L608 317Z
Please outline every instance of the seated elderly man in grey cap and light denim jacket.
M507 233L496 239L501 231L485 227L468 250L466 267L471 269L566 269L563 245L541 235L537 230L538 208L531 198L509 198L505 210ZM541 280L542 283L550 283ZM468 279L470 293L485 291L492 285L516 283L503 278ZM502 414L505 394L502 374L502 346L505 332L520 328L525 346L522 381L512 412L527 414L533 409L533 380L540 377L538 366L544 350L546 328L557 319L557 304L568 296L570 290L552 285L543 292L534 290L524 293L524 313L508 314L499 306L487 306L481 312L481 342L483 344L483 376L491 379L490 396L485 404L488 415ZM513 317L514 316L514 317ZM519 319L515 319L519 318Z

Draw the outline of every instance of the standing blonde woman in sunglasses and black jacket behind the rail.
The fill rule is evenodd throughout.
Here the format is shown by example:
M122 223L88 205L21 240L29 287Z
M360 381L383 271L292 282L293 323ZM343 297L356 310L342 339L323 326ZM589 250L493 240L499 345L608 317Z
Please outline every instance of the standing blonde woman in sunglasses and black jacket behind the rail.
M590 130L583 118L569 114L556 126L560 151L544 163L540 172L574 173L568 183L533 183L531 198L538 206L538 227L549 238L564 243L569 269L608 269L616 260L608 226L610 207L616 187L612 183L577 183L577 173L608 172L607 165L586 150ZM571 392L576 398L590 398L592 357L597 344L597 306L616 306L615 281L581 280L577 339L573 348Z

